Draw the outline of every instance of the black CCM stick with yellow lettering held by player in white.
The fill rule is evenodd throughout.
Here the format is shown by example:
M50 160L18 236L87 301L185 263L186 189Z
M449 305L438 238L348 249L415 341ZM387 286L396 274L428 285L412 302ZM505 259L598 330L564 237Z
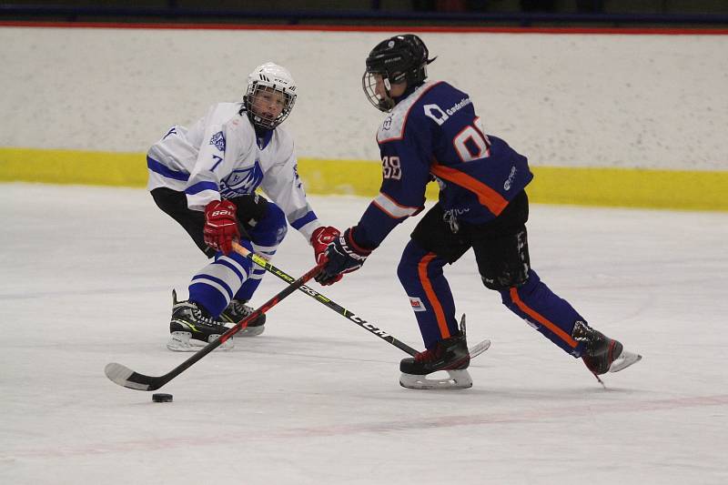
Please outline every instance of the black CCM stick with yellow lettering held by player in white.
M233 251L235 251L236 253L238 253L241 256L244 256L244 257L252 260L260 268L265 268L269 273L273 273L278 278L281 278L282 280L284 280L288 283L293 281L293 277L288 275L286 272L281 271L280 269L271 265L268 262L268 259L263 258L263 257L259 256L258 254L248 250L248 248L244 248L244 247L240 246L236 242L233 242ZM392 337L391 335L389 335L389 333L382 330L381 328L375 327L374 325L370 324L364 318L357 317L355 314L351 313L348 309L343 308L337 302L321 295L315 289L309 288L306 285L300 285L298 287L298 289L303 291L304 293L306 293L309 297L314 298L315 300L319 301L320 303L323 303L327 307L331 308L332 310L337 312L342 317L349 319L350 321L359 325L359 327L364 328L365 330L369 331L369 333L372 333L372 334L376 335L377 337L381 338L382 340L389 342L391 345L393 345L397 349L403 350L404 352L410 354L410 356L414 357L418 353L417 350L412 349L409 345L402 342L398 338ZM489 347L490 347L490 340L483 340L482 342L480 342L470 348L470 357L475 357L477 355L480 355L481 353L486 351Z

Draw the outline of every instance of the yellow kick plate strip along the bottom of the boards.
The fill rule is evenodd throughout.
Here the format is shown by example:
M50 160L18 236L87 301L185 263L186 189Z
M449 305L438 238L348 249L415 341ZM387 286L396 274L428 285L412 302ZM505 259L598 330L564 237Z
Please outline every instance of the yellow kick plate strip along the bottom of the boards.
M144 154L0 148L0 181L144 187ZM728 211L728 171L617 167L531 167L531 200L543 204ZM310 194L374 196L379 164L369 160L301 158ZM428 198L437 197L430 184Z

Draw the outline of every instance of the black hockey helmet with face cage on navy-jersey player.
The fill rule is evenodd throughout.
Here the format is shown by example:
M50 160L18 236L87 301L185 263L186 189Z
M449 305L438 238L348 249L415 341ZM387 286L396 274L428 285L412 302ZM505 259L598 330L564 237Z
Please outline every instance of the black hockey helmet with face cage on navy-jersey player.
M381 111L391 111L394 100L389 96L392 84L407 82L408 87L420 86L427 79L429 51L422 39L414 34L395 35L376 45L367 56L367 69L361 86L369 102ZM376 92L375 76L384 82L387 96Z

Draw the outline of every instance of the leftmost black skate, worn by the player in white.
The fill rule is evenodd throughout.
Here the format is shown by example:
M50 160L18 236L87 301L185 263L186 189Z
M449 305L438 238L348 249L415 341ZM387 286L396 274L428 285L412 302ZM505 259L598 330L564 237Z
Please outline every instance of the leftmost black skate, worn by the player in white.
M172 290L172 320L169 322L169 341L167 349L176 352L195 352L196 347L207 345L227 332L225 322L210 317L203 308L191 301L177 301L177 292ZM229 350L232 338L220 345Z

